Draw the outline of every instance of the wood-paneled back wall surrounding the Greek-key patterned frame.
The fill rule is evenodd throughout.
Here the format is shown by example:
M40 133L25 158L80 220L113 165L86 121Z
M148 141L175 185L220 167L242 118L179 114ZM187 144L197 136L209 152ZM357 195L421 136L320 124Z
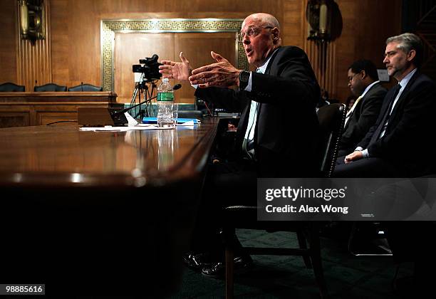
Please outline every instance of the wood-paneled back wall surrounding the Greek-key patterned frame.
M383 68L385 38L400 33L401 28L401 0L336 0L343 21L342 33L323 51L306 41L307 0L46 0L48 38L36 50L19 43L16 1L0 2L0 82L25 83L26 90L33 88L34 80L38 84L52 81L67 86L81 82L101 85L102 19L244 19L248 14L264 11L279 19L284 45L300 46L308 53L321 87L328 90L331 98L345 101L349 95L348 65L368 58ZM147 51L143 56L147 56ZM33 73L24 69L24 63Z

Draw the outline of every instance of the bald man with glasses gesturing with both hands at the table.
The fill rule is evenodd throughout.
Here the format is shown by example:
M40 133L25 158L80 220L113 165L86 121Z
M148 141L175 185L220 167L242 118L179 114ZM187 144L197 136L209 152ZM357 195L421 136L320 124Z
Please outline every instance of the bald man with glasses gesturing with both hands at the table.
M313 157L318 157L315 106L320 88L306 53L295 46L281 46L279 22L270 14L247 16L239 40L256 72L238 70L213 51L217 62L192 72L182 53L181 63L162 61L160 66L164 77L190 80L197 97L242 112L234 159L208 169L194 236L199 247L195 248L197 254L186 258L190 266L212 277L224 273L224 248L217 235L222 207L256 206L257 177L316 177L319 169L318 159ZM236 236L234 241L239 243ZM251 258L242 252L236 253L235 266L245 268Z

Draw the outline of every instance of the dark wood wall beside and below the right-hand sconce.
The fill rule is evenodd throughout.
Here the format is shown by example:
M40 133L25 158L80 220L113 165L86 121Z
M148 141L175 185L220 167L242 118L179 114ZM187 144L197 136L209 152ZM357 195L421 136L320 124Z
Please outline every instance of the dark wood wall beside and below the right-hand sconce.
M336 0L336 3L342 16L341 36L326 45L324 54L320 46L310 41L306 41L305 50L321 87L331 98L345 102L351 95L347 70L353 61L365 58L373 61L377 68L385 68L386 38L401 33L401 0Z

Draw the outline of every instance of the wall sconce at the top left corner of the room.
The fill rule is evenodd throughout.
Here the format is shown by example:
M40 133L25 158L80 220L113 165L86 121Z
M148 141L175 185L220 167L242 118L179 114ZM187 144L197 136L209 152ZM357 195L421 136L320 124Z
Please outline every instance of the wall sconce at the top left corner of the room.
M35 43L45 38L43 0L18 0L21 38Z

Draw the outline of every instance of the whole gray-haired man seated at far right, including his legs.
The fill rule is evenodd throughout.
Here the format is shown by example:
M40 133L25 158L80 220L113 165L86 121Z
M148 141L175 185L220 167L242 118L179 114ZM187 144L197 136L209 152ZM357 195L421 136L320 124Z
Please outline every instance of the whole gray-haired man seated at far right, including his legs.
M420 177L435 172L431 133L436 129L436 84L420 73L420 38L412 33L388 38L383 63L398 85L386 94L377 122L358 149L338 158L336 177ZM407 296L428 298L420 295L431 291L436 279L435 224L388 221L385 226L395 261L415 261L415 284Z

